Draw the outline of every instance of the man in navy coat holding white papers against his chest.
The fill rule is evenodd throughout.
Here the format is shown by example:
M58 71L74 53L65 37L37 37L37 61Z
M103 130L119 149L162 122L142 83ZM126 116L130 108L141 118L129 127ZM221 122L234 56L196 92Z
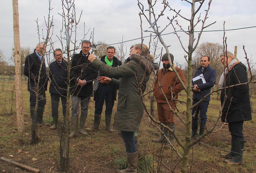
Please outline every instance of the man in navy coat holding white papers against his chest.
M216 81L216 70L210 67L210 58L203 56L201 59L201 66L195 72L194 78L192 79L193 102L192 105L196 104L204 96L211 92L211 87L214 86ZM210 101L210 95L203 99L202 102L197 104L192 109L192 137L199 138L204 134L205 124L207 121L207 108ZM200 111L200 130L198 129L198 113Z

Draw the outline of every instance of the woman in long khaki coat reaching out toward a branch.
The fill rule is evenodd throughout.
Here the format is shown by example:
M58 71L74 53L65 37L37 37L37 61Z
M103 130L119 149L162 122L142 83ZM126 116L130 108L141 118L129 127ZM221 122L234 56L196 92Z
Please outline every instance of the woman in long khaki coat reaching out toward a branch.
M137 77L140 81L143 79L141 89L144 92L149 76L154 71L154 66L150 63L148 52L149 50L146 45L134 45L130 49L131 60L118 67L109 66L96 59L92 54L88 57L88 60L100 72L108 76L119 77L119 80L112 78L110 80L111 83L110 81L108 83L119 87L114 128L121 131L126 148L128 168L125 170L116 170L116 173L136 173L138 159L143 155L139 143L134 138L134 132L138 131L144 112L142 100L139 96Z

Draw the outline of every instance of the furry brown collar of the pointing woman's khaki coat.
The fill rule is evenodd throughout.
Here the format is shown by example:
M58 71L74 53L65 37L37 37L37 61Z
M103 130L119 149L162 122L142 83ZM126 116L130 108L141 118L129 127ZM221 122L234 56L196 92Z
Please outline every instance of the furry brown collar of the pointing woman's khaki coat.
M130 56L131 60L134 60L139 63L141 61L141 66L146 69L146 73L149 76L151 72L154 71L154 66L149 62L149 58L143 55L139 55L137 53L133 53Z

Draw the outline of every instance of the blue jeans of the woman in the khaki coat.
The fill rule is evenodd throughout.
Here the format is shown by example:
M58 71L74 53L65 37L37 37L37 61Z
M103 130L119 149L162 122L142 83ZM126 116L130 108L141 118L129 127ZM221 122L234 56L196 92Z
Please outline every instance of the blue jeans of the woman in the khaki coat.
M136 138L134 137L134 132L121 131L121 137L123 138L126 152L134 153L137 151L135 144L137 143Z

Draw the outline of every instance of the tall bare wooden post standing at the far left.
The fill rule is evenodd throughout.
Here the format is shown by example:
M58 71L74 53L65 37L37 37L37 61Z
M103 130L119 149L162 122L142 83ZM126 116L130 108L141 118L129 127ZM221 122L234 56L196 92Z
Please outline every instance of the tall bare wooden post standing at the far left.
M14 64L15 64L15 91L16 91L16 114L18 132L24 132L24 115L21 83L21 46L18 0L12 0L13 8L13 36L14 36Z

